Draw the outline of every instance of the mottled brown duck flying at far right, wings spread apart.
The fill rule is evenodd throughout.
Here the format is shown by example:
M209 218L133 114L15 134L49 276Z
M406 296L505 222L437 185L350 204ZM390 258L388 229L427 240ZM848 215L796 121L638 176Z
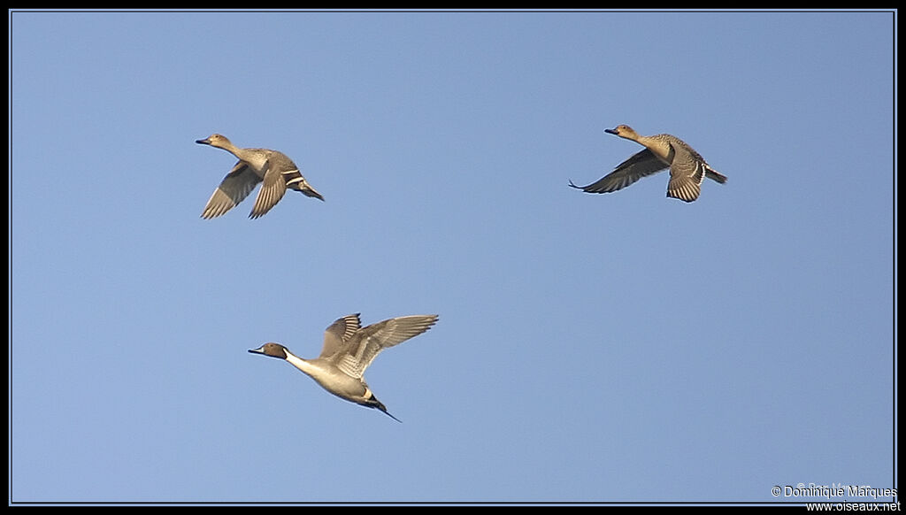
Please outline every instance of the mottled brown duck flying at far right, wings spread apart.
M616 129L606 129L604 132L640 143L645 150L624 160L615 170L593 184L576 186L570 180L569 185L573 188L587 193L610 193L625 188L642 177L670 168L667 196L691 202L699 198L701 182L706 177L721 184L727 182L727 177L711 168L699 152L676 136L640 136L629 125L619 125Z

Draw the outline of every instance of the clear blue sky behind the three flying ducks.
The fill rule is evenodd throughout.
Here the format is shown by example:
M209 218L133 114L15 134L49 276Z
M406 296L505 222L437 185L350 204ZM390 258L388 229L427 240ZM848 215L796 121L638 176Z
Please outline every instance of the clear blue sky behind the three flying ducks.
M9 18L12 501L898 486L892 13ZM568 188L619 123L728 183ZM326 201L200 219L212 132ZM440 316L366 374L403 423L246 352L357 312Z

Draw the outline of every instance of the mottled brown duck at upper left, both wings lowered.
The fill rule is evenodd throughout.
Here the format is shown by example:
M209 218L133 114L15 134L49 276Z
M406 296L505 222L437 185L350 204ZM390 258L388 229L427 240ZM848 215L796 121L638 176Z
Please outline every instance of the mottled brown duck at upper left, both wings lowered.
M220 186L207 200L207 206L201 213L203 219L213 219L233 209L261 181L264 181L264 185L258 191L255 207L248 215L251 219L256 219L273 208L280 199L283 199L287 188L300 191L308 197L324 199L321 193L308 184L293 160L286 157L283 152L240 149L221 134L211 134L206 139L195 142L223 149L239 159L233 170L226 174Z

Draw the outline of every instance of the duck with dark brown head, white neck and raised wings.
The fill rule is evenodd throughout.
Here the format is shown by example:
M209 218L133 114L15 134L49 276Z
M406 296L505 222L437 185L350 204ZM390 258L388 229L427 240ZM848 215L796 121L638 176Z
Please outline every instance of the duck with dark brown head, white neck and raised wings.
M362 327L356 313L338 318L327 328L321 355L315 359L303 359L283 345L274 343L249 349L248 352L284 359L331 394L352 403L377 408L400 422L374 397L362 375L382 350L424 333L437 321L437 315L412 315Z

